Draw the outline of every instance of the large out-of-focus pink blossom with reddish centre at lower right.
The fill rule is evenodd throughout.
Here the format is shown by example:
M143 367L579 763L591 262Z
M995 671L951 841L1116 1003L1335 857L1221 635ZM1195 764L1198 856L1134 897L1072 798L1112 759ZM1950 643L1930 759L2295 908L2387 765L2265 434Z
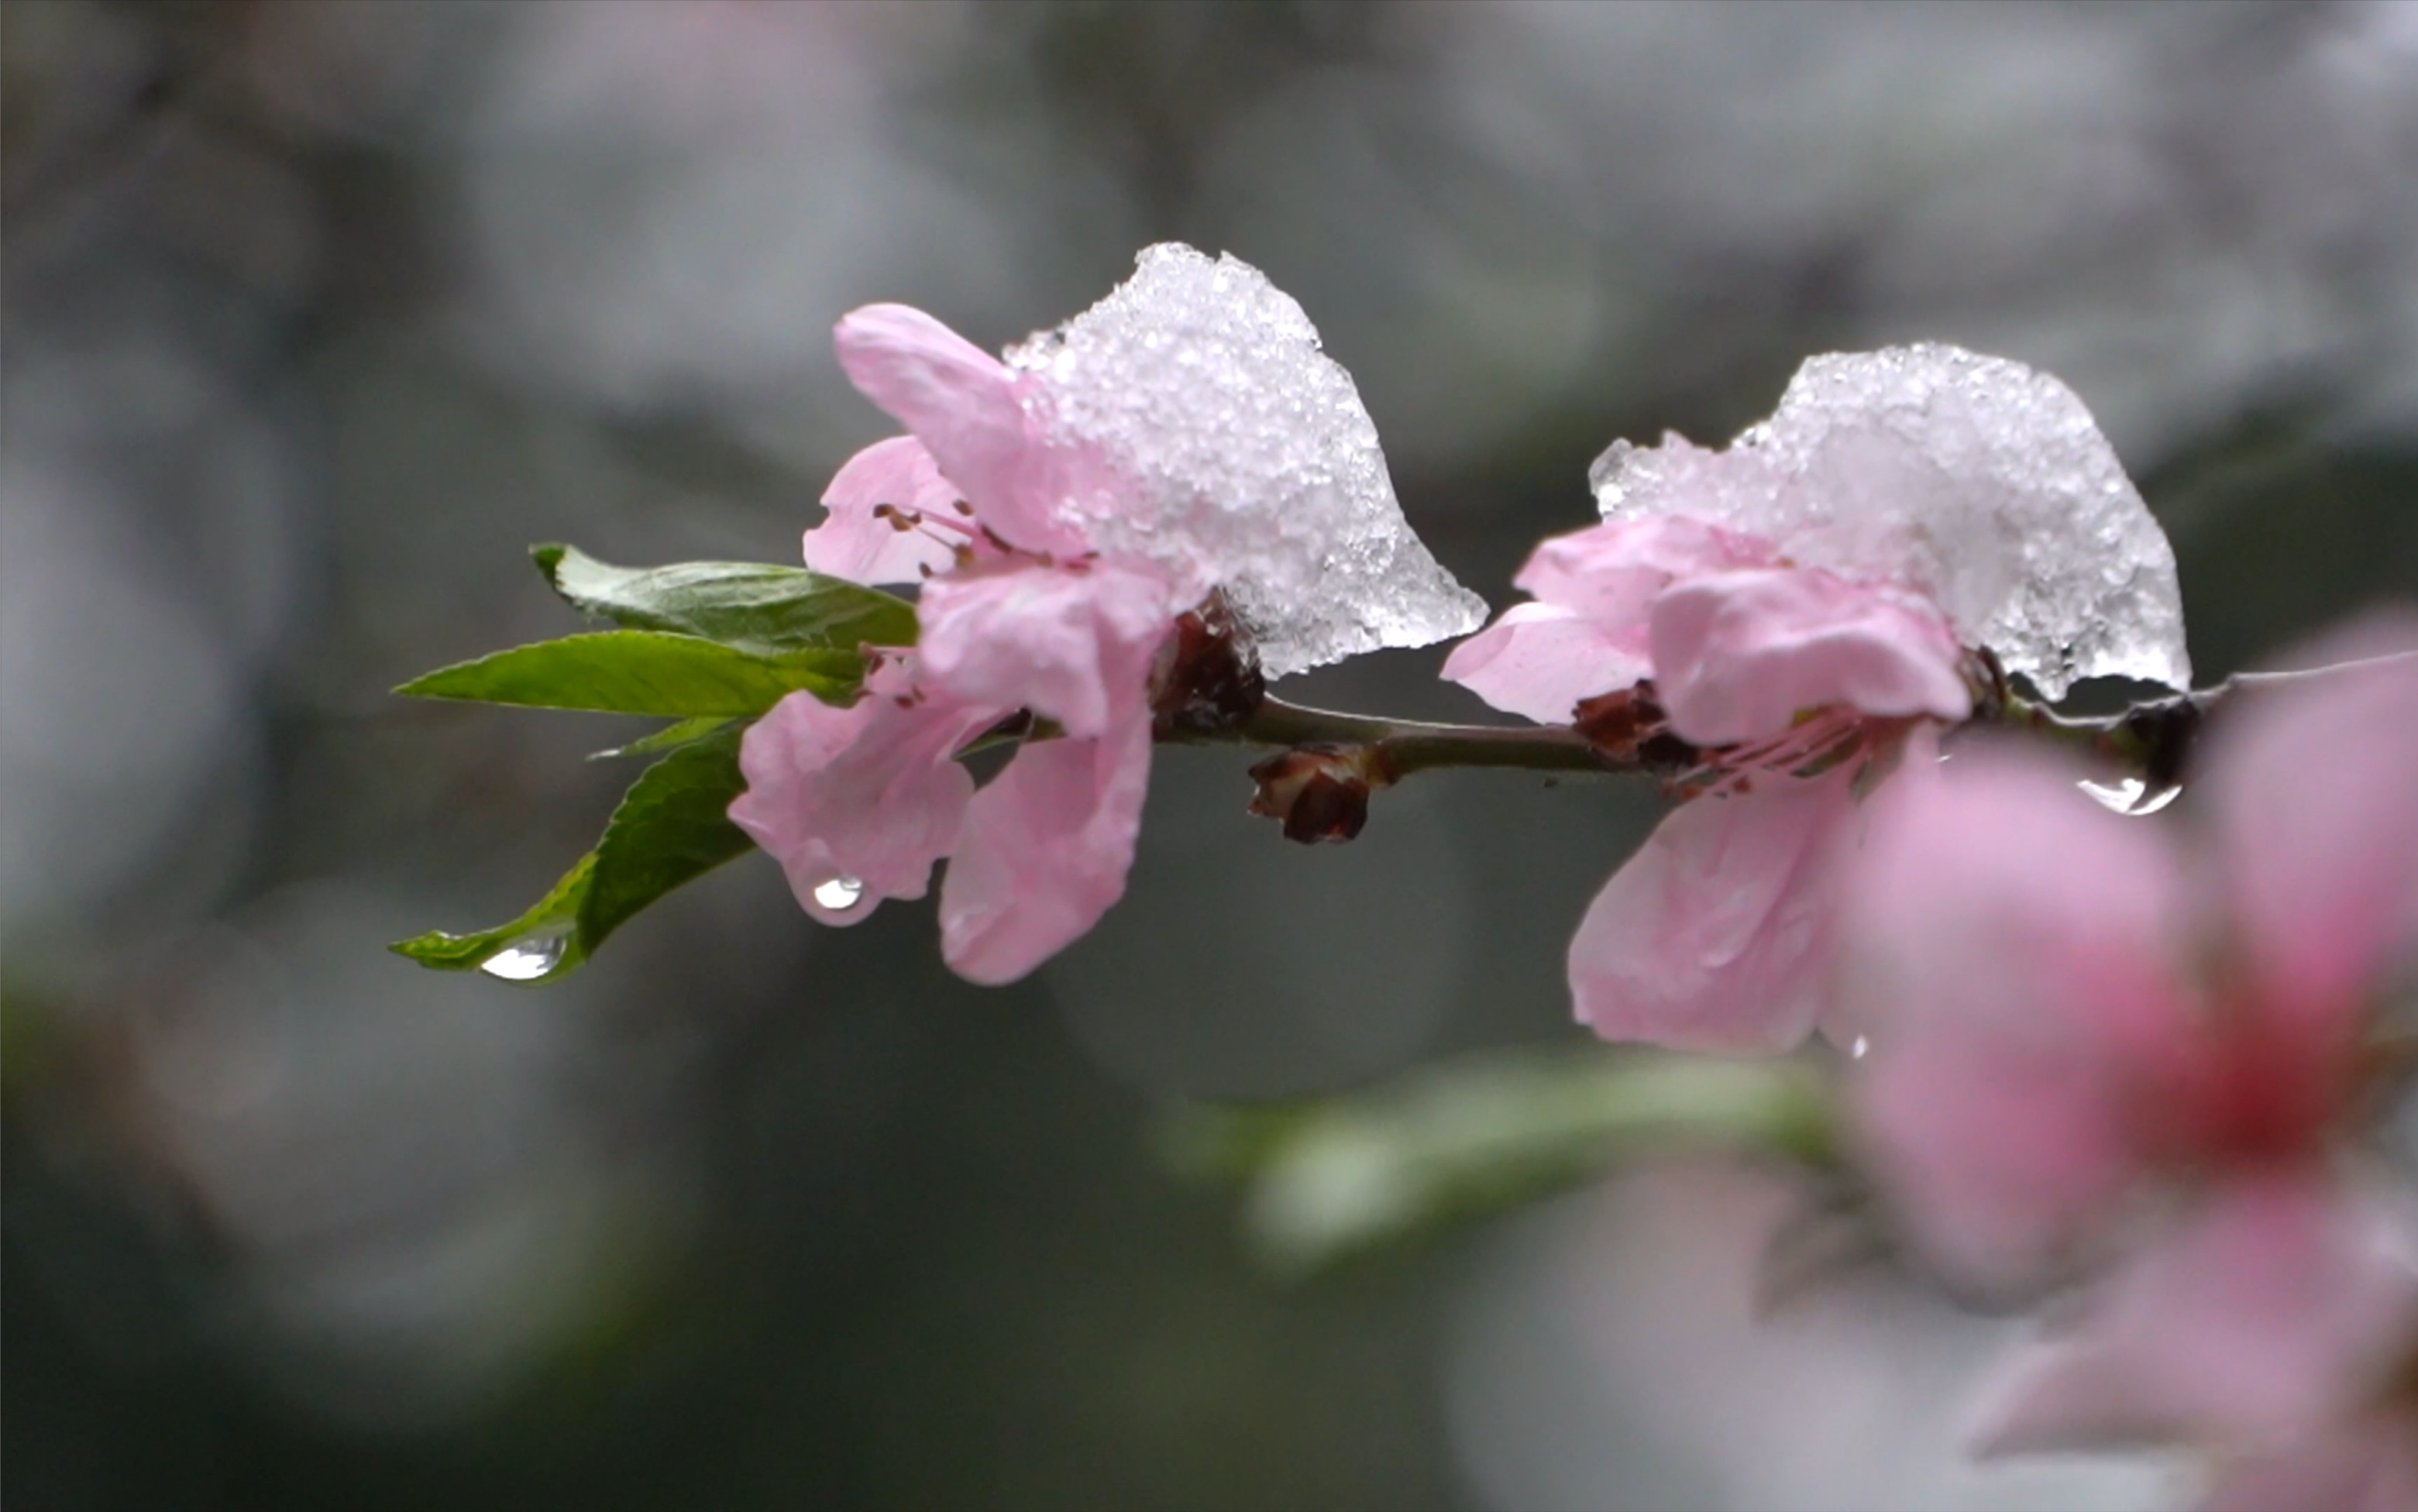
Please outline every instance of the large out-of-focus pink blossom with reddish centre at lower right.
M2113 1258L1985 1449L2273 1447L2418 1357L2418 1227L2353 1142L2418 953L2418 660L2225 719L2198 835L1980 748L1876 803L1845 876L1859 1139L1908 1231L1985 1287Z

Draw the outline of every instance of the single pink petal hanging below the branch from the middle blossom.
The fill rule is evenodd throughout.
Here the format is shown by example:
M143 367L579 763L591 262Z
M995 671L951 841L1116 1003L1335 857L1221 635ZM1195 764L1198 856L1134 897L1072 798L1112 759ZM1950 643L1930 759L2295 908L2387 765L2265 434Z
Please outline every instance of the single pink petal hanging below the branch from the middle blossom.
M1821 1011L1830 847L1852 818L1845 774L1681 806L1569 941L1579 1018L1673 1050L1799 1045Z

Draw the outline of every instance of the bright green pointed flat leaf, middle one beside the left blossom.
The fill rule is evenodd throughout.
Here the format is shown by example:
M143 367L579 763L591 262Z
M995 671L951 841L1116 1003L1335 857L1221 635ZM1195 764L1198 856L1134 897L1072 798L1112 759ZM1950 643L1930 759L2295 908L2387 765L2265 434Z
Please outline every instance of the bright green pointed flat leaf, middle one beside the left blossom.
M759 656L696 636L609 629L438 668L394 692L609 714L752 716L805 689L844 702L863 680L856 651Z

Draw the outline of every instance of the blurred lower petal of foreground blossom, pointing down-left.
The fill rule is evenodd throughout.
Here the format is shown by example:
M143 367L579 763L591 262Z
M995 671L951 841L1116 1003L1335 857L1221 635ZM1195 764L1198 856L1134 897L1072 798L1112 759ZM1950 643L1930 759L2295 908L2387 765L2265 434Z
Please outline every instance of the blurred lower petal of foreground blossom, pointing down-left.
M2319 1168L2227 1181L2007 1372L1980 1449L2304 1432L2413 1345L2408 1229Z

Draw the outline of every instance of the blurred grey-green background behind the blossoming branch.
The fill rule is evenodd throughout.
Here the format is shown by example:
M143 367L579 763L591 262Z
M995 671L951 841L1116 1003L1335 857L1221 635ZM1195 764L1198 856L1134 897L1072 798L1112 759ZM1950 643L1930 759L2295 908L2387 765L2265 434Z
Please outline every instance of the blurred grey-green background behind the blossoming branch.
M1279 1289L1170 1176L1170 1101L1572 1035L1644 789L1303 852L1168 750L1018 987L750 856L527 992L382 943L534 898L631 726L384 689L573 629L534 539L793 559L890 431L851 305L996 346L1168 237L1303 302L1497 605L1608 440L1809 351L2048 368L2217 677L2418 593L2418 5L10 0L0 68L15 1512L2164 1490L1959 1468L1992 1326L1886 1282L1748 1328L1765 1178ZM1289 692L1482 716L1439 663Z

